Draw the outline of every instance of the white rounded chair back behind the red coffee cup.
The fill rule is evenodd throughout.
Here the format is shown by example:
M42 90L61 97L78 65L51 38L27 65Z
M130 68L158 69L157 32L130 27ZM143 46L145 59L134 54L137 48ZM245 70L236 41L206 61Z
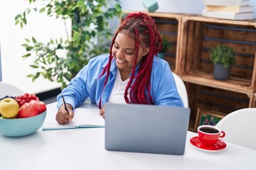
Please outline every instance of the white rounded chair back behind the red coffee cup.
M216 127L225 132L224 141L256 150L256 108L229 113Z

